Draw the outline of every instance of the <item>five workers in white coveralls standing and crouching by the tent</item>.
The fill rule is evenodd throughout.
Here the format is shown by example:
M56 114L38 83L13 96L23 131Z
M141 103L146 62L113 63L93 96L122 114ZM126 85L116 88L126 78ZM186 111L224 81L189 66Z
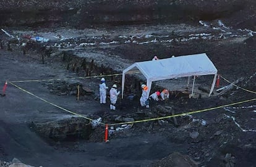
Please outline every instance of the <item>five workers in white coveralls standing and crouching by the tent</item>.
M149 108L149 100L160 100L158 97L161 97L161 100L169 99L169 91L168 89L164 89L163 91L156 91L149 96L149 89L147 85L142 84L142 96L140 97L140 105L142 107ZM106 90L108 86L106 86L105 78L101 78L100 83L100 104L106 104ZM110 96L110 110L116 110L116 102L117 96L120 94L120 91L117 91L117 85L113 84L112 88L109 90ZM149 97L149 98L148 98Z

